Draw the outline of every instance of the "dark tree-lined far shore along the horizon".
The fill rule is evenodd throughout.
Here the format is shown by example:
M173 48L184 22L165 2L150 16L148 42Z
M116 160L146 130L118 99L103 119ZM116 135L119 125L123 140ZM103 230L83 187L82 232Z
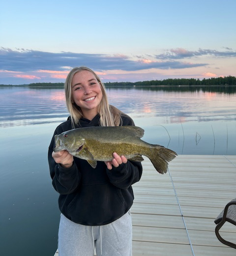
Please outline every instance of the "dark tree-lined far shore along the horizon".
M225 76L217 78L204 78L203 80L195 78L168 78L164 80L150 80L140 82L108 82L105 87L118 86L235 86L235 76ZM28 87L58 87L64 86L64 83L31 83L28 85L2 85L0 86L28 86Z

